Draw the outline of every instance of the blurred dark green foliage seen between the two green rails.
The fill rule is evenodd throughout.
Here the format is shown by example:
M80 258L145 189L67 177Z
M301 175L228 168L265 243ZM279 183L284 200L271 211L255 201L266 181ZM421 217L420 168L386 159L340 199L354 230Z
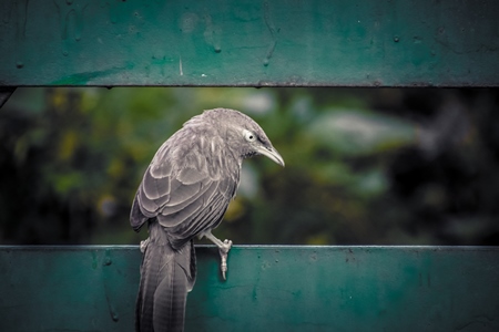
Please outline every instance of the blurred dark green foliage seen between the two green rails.
M283 155L243 166L214 231L235 245L499 245L498 90L18 89L0 108L0 243L139 243L130 207L202 110Z

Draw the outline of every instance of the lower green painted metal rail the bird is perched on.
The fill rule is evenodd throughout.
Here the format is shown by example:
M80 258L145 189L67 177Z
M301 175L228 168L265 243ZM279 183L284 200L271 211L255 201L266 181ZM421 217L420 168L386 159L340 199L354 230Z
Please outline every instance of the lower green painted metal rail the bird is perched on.
M197 247L186 331L499 331L499 248ZM138 247L0 247L0 331L133 331Z

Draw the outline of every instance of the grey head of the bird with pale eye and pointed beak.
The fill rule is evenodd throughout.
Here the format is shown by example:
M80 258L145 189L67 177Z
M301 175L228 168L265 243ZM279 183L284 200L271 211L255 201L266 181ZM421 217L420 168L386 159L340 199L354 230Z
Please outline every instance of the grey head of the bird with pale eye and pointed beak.
M223 133L225 143L241 158L264 155L284 167L284 159L272 145L262 127L249 116L234 110L214 108L201 117L207 120Z

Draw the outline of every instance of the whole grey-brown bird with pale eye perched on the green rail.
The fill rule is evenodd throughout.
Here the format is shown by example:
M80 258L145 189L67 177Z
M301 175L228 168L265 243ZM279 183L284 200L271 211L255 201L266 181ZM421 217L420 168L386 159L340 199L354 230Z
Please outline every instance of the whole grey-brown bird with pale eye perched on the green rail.
M194 238L218 247L226 278L232 241L213 236L236 195L245 158L284 159L261 126L230 108L206 110L166 139L146 168L133 199L130 224L147 225L141 242L135 331L183 331L185 304L196 279Z

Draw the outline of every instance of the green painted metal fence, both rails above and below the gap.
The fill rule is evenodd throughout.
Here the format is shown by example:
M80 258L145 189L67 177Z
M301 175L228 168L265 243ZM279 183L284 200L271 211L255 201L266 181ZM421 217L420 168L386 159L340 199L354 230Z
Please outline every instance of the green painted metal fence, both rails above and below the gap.
M16 86L499 86L493 0L0 1ZM0 103L1 104L1 103ZM187 331L499 331L499 248L198 247ZM132 331L136 247L0 247L0 331Z

